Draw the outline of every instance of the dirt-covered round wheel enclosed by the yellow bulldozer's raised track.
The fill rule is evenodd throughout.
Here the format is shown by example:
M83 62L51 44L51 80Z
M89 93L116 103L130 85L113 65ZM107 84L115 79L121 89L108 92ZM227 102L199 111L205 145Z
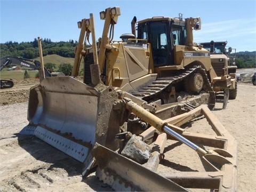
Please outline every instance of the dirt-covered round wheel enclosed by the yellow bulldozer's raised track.
M201 74L191 74L187 78L186 87L189 93L199 93L203 89L204 79Z

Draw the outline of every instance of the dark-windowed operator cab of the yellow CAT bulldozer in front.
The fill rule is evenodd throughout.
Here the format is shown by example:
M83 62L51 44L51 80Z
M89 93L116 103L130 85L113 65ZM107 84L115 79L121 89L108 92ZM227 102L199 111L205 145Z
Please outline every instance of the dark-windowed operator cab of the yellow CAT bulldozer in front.
M139 21L138 39L147 39L151 44L154 67L174 65L174 46L186 43L185 21L166 17Z

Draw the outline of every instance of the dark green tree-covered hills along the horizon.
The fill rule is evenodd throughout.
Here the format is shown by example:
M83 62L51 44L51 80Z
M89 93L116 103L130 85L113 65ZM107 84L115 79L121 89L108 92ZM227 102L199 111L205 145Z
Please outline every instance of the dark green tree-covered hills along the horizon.
M61 57L75 58L75 47L77 41L69 40L67 42L52 42L50 38L44 38L42 41L43 56L47 54L57 54ZM39 57L37 38L31 42L6 42L0 43L0 56L16 56L26 59L35 59ZM236 65L238 68L255 68L256 67L256 51L237 52L231 54L236 57Z

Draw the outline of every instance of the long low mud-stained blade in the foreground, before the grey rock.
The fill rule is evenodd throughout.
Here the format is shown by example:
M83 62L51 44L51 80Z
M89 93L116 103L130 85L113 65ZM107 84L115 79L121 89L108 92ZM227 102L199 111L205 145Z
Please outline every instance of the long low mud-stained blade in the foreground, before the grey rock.
M116 191L188 191L137 162L96 143L97 175Z

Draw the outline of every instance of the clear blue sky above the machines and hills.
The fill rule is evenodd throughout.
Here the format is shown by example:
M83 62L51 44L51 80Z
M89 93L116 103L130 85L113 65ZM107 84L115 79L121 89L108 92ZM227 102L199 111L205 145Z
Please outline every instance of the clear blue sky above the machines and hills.
M119 6L114 40L131 33L131 21L155 16L201 17L201 30L194 31L194 42L227 41L239 51L256 51L256 0L0 0L0 43L31 42L49 38L52 42L78 41L77 21L94 14L96 38L101 37L104 21L99 12ZM1 50L0 50L1 51Z

